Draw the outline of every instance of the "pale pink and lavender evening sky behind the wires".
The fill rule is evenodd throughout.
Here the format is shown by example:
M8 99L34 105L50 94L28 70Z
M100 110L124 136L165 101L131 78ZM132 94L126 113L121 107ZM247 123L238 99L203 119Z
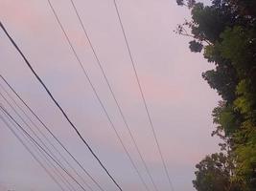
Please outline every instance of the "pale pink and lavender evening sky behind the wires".
M74 2L158 190L170 190L113 1ZM52 0L52 3L128 152L153 190L70 0ZM205 155L219 151L219 139L211 137L214 130L211 111L221 98L201 77L214 66L200 53L190 53L189 38L173 32L177 24L190 17L190 12L177 7L175 1L118 0L117 4L175 191L195 190L192 185L195 165ZM123 190L145 190L66 43L47 0L1 0L0 16L36 73ZM105 190L117 190L2 31L0 39L0 73ZM1 84L4 85L3 81ZM5 95L3 89L0 90ZM2 97L1 104L18 118ZM0 191L59 190L2 120L0 125ZM84 179L88 180L85 176Z

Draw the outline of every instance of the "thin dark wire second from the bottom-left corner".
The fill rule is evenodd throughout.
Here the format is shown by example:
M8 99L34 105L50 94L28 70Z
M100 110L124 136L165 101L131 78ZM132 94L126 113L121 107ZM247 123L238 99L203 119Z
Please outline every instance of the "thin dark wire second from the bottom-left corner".
M30 138L33 142L35 142L35 144L50 158L52 159L57 165L58 167L63 171L65 172L65 174L70 177L72 180L74 180L80 187L83 191L86 191L81 183L76 180L72 175L69 174L68 171L65 170L65 168L62 168L62 166L58 163L58 161L56 159L54 159L36 140L35 138L33 138L10 114L7 110L5 110L1 105L0 105L0 108L2 109L2 111L4 111L5 114L7 114L10 118L12 118L12 121L19 127L19 129L28 137Z

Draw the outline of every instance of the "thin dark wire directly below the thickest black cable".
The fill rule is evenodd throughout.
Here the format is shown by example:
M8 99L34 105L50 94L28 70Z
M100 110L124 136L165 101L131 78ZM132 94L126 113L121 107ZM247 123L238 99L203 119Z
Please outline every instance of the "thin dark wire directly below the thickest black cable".
M105 191L100 183L95 180L81 165L81 163L67 150L67 148L63 145L63 143L60 142L60 140L53 134L53 132L50 130L50 128L42 121L40 117L38 117L35 112L32 110L32 108L22 99L21 96L17 94L17 92L12 88L10 83L0 74L1 78L4 80L4 82L8 85L8 87L12 90L12 93L14 93L15 96L19 98L19 100L27 107L27 109L34 115L34 117L41 123L41 125L50 133L50 135L55 138L58 141L58 144L65 150L65 152L75 160L75 162L81 167L81 170L100 188L100 190ZM0 84L1 85L1 84ZM3 88L3 86L1 86ZM8 93L7 93L8 94Z

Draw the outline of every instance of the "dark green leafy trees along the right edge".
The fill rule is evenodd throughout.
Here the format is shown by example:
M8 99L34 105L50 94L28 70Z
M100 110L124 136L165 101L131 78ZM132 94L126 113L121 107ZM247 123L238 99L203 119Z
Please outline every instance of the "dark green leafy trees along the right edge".
M256 190L256 1L212 0L205 6L177 0L192 20L177 26L191 52L215 65L202 77L222 97L213 110L221 153L197 164L198 191Z

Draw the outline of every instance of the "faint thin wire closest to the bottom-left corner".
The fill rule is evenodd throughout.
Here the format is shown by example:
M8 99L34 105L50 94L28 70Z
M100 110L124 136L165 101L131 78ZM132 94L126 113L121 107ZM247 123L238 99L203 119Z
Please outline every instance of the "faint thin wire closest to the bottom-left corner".
M14 130L12 129L12 127L9 125L9 123L6 121L6 119L4 117L2 117L2 115L0 115L1 119L3 120L3 122L6 124L6 126L8 127L8 129L10 129L10 131L12 132L12 134L14 135L15 138L17 138L21 144L26 148L26 150L31 154L31 156L35 159L35 161L43 168L43 170L47 173L47 175L54 180L54 182L58 185L58 187L60 188L60 190L65 191L64 188L61 186L61 184L58 182L58 180L56 180L56 178L50 173L50 171L43 165L43 163L37 159L37 157L34 155L34 153L32 152L32 150L25 144L25 142L19 138L19 136L14 132Z

